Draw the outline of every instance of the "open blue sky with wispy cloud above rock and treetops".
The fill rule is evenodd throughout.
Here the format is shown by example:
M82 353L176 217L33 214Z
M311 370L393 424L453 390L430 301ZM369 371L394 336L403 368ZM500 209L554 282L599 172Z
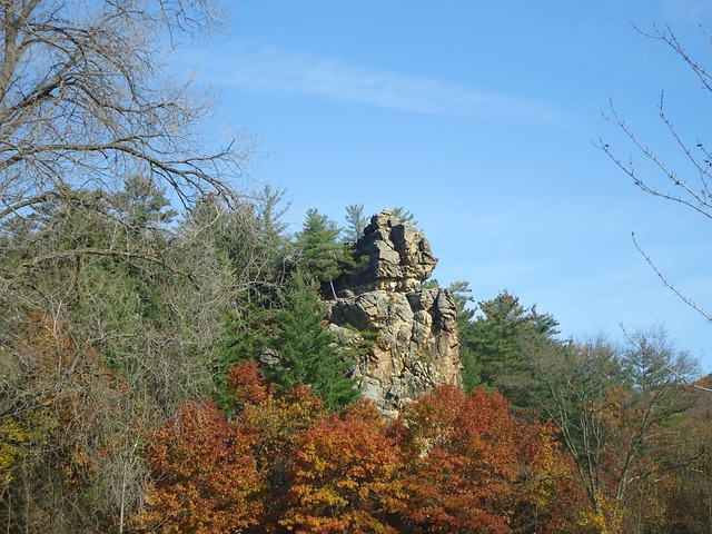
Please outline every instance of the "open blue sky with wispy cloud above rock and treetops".
M711 310L712 221L644 195L594 146L650 170L602 116L612 99L684 177L663 90L691 142L710 135L712 95L632 26L653 22L712 65L706 0L243 0L180 59L219 95L216 137L256 137L253 184L287 189L295 230L309 208L344 224L352 204L404 206L443 285L467 280L478 300L506 288L563 336L663 324L712 372L712 325L631 240Z

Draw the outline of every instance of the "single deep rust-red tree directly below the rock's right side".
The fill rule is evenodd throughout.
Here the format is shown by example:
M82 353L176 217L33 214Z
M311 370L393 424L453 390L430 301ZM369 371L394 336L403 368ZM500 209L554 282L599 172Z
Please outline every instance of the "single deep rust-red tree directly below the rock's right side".
M507 402L442 386L411 405L402 424L414 530L510 532L505 500L517 474L517 432Z

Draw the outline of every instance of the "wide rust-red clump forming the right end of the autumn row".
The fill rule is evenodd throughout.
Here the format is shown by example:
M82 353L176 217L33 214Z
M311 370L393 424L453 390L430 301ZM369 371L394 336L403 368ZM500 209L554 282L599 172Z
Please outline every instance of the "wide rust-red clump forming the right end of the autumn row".
M512 511L534 510L534 493L543 515L561 498L555 483L548 495L544 485L527 483L565 475L552 434L516 419L498 393L441 386L407 406L398 425L407 532L510 533ZM526 523L522 517L523 528Z

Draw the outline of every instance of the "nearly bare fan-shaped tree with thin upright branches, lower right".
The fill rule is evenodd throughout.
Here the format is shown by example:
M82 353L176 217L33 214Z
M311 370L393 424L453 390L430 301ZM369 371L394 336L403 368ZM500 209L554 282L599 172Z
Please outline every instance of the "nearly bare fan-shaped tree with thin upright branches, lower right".
M601 533L634 532L630 503L641 484L671 467L670 457L651 451L691 406L682 384L694 362L663 333L643 330L624 349L604 340L572 345L534 369L547 387L541 409L558 427L587 495L582 521Z

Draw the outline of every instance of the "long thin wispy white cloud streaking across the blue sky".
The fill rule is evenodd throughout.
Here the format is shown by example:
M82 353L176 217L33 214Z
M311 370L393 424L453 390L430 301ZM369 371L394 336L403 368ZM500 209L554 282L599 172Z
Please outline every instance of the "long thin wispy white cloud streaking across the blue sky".
M526 99L279 50L230 58L222 62L216 81L254 91L315 95L417 113L561 120L554 110Z

